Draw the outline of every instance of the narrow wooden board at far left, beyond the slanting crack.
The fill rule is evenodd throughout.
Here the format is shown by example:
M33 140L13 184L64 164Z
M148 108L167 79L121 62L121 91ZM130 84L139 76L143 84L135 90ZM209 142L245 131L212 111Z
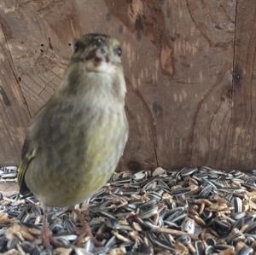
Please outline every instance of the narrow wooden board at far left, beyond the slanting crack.
M0 164L20 159L20 146L30 119L26 99L10 54L7 27L0 26Z

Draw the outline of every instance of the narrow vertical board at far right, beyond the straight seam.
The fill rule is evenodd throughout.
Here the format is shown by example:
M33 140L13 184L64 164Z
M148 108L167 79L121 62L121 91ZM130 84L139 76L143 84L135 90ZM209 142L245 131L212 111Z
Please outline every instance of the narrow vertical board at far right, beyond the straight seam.
M230 167L252 169L256 164L256 2L237 0L230 125Z

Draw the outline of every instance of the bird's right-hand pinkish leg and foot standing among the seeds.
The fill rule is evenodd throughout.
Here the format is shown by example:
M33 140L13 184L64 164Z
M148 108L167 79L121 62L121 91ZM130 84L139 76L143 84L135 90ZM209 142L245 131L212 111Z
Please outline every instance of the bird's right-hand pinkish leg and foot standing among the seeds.
M86 219L86 216L78 209L74 209L73 212L76 213L78 220L82 225L82 228L78 230L79 236L75 241L75 244L78 244L80 241L82 241L85 236L89 236L96 246L102 246L102 243L100 241L97 241L96 238L92 235L90 225L88 223L88 220Z

